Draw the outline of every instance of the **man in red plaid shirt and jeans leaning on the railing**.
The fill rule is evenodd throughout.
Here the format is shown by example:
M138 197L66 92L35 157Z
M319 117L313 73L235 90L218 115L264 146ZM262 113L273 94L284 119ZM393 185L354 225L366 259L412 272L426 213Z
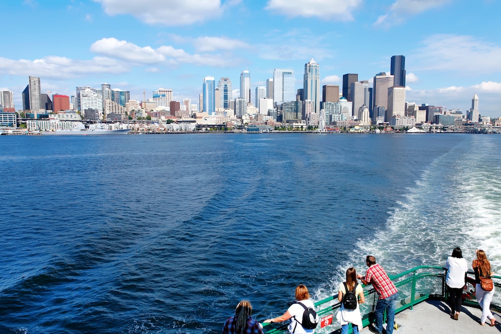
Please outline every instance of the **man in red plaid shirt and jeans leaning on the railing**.
M388 312L388 317L386 319L386 334L393 334L393 322L395 320L398 290L384 271L383 267L376 264L376 258L374 256L367 255L366 263L369 269L367 269L365 276L362 277L358 274L357 278L365 285L372 284L379 295L376 308L374 309L374 315L376 317L375 325L369 325L369 330L374 333L383 332L383 313L386 309Z

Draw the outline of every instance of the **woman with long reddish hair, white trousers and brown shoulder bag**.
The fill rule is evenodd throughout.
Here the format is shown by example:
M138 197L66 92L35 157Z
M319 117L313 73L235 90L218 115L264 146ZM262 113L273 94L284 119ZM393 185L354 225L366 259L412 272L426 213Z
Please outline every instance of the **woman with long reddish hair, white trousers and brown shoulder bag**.
M480 324L483 326L487 318L490 320L489 326L494 326L496 324L496 319L490 311L490 301L494 295L494 286L492 290L486 291L482 289L480 284L480 277L490 278L492 272L490 271L490 262L485 255L485 252L481 249L476 251L476 259L472 263L473 270L475 271L475 294L476 300L482 309L482 316L480 317Z

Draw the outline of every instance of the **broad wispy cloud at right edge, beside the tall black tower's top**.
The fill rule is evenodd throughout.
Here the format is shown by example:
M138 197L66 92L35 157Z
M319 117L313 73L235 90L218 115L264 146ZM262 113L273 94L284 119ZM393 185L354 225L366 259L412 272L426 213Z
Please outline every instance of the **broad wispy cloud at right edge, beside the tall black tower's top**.
M501 71L501 45L472 36L433 35L414 51L415 70L495 73Z

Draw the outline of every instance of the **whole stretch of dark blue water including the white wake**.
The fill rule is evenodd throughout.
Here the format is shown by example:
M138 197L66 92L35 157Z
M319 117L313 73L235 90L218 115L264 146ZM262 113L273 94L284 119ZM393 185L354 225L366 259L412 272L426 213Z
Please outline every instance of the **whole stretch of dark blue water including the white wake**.
M501 136L0 137L0 332L218 333L460 246L501 267Z

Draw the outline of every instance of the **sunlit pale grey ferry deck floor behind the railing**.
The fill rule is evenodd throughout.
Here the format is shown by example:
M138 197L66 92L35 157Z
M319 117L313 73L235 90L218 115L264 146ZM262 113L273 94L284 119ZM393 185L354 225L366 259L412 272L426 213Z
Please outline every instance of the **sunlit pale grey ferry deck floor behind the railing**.
M394 334L411 333L445 333L445 334L472 334L472 333L499 333L501 324L491 327L489 320L483 326L480 325L480 315L482 311L479 308L462 306L459 319L450 318L449 306L438 300L423 301L395 315L397 324L401 325L398 330L393 330ZM495 311L492 314L497 321L501 321L501 315ZM385 326L385 325L383 325ZM364 334L370 334L371 331L366 327Z

